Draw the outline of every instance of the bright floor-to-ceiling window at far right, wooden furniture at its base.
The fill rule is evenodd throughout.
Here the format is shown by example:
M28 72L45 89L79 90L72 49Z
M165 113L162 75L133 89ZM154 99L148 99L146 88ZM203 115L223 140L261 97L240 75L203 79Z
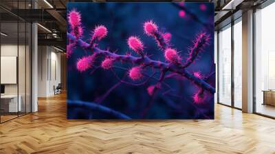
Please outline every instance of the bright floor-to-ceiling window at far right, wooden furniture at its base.
M275 117L275 3L255 12L255 111Z

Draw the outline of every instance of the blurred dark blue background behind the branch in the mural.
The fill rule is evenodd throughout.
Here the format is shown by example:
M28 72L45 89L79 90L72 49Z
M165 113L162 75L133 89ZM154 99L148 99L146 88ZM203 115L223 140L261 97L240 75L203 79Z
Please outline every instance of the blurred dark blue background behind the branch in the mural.
M199 71L206 76L210 72L214 72L214 8L212 3L203 4L206 5L206 10L199 8L201 3L184 3L184 7L187 9L185 17L179 17L179 11L181 10L179 3L67 3L67 12L73 9L80 12L85 29L84 41L91 37L91 30L96 25L105 25L109 32L107 37L99 43L101 49L117 51L117 54L131 52L134 56L137 56L129 50L126 39L132 35L140 36L146 47L145 52L152 55L151 58L160 61L164 61L163 53L159 50L155 41L144 34L142 23L145 21L152 19L159 26L159 30L170 32L172 34L171 43L174 48L181 51L180 54L184 60L188 54L188 47L192 46L196 34L207 32L211 38L210 45L199 55L195 63L187 68L189 72ZM201 22L198 22L187 12L195 14ZM78 72L76 62L78 58L87 54L91 53L76 47L74 54L68 58L68 100L94 102L98 96L101 96L115 83L118 83L113 73L108 70L98 69L94 74L91 74L92 69L83 73ZM95 64L100 65L100 59ZM115 63L115 65L127 69L133 66L121 63ZM115 69L115 72L119 76L124 74L124 71L120 69ZM129 78L127 80L131 81ZM166 83L176 90L174 94L181 96L181 98L175 96L164 98L162 93L158 93L151 109L144 117L141 117L140 115L150 99L146 88L148 85L155 83L155 80L149 80L148 83L140 87L122 84L113 90L101 104L135 119L214 118L214 96L209 94L209 99L206 102L195 104L192 96L198 88L186 79L166 80ZM208 83L214 87L214 76L210 78ZM171 101L174 105L167 103ZM68 106L67 118L111 119L113 117L99 111Z

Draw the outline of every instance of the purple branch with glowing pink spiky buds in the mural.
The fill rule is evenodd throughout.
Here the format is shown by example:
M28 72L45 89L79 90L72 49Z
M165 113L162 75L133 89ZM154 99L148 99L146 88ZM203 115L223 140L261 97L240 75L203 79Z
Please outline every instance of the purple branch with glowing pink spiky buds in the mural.
M144 33L155 39L159 49L162 50L164 58L167 61L167 63L165 63L162 61L154 61L153 59L146 56L146 53L144 52L144 45L137 36L130 36L127 40L127 43L129 48L140 56L131 56L129 54L120 55L115 54L114 52L110 52L109 50L101 50L97 43L105 36L107 36L108 32L104 25L96 26L96 28L91 32L91 39L89 43L87 43L81 39L83 28L81 27L80 12L72 10L72 12L69 13L68 19L71 30L71 32L67 32L67 38L69 39L67 50L69 51L69 54L72 54L76 45L82 47L83 50L92 52L92 55L83 56L83 58L78 60L76 66L80 72L91 69L94 61L96 61L96 58L101 56L104 57L104 60L100 65L103 69L112 69L115 62L134 64L135 66L128 70L128 76L133 81L140 80L143 77L144 69L146 69L146 67L152 67L153 69L159 70L161 75L159 76L157 83L147 88L148 94L151 96L155 94L157 89L161 89L162 83L166 78L171 76L171 74L183 76L199 87L199 91L193 96L194 102L201 102L201 100L206 97L204 95L204 91L208 91L210 94L214 94L215 89L207 83L208 79L202 78L202 76L198 73L190 73L186 70L186 67L195 62L199 52L203 51L203 47L208 45L208 41L210 39L208 34L200 33L197 36L193 47L190 48L189 57L186 59L186 62L183 63L179 52L177 52L177 50L172 48L170 45L171 34L167 32L159 32L157 24L153 21L145 22L143 26ZM80 26L80 28L76 28L77 26ZM76 32L77 30L80 32ZM168 72L170 74L167 74ZM150 78L153 78L153 75ZM120 80L120 83L126 82ZM145 83L146 82L133 85L144 85Z

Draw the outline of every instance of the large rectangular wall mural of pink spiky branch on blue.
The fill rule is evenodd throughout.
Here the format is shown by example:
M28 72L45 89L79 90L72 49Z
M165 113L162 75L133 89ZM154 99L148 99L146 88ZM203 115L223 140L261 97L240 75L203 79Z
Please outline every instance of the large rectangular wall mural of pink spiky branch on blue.
M68 119L213 119L212 3L67 3Z

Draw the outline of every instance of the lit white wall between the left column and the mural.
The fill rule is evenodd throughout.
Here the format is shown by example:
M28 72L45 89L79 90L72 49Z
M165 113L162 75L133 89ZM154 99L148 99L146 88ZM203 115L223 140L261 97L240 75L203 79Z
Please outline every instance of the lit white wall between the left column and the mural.
M39 46L38 96L54 95L54 86L61 83L61 54L54 47Z

